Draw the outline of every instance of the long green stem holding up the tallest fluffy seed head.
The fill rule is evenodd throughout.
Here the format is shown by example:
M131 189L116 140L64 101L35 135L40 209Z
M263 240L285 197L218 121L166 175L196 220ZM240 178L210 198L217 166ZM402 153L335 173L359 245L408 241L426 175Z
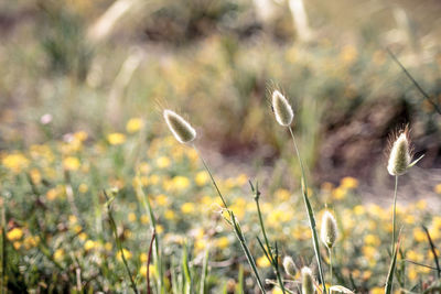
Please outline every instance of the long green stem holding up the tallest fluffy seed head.
M312 210L311 203L308 198L308 184L306 184L306 176L304 173L303 162L302 162L302 157L300 156L299 148L297 146L294 133L292 132L291 127L288 127L288 129L290 130L292 142L294 143L297 157L299 160L300 168L302 172L302 185L301 186L302 186L303 202L304 202L304 206L306 207L308 218L310 221L310 228L311 228L311 232L312 232L312 243L314 247L315 258L316 258L318 265L319 265L319 275L320 275L320 280L322 281L322 285L323 285L323 293L327 293L326 283L325 283L324 276L323 276L322 257L320 254L319 236L318 236L316 228L315 228L314 211Z

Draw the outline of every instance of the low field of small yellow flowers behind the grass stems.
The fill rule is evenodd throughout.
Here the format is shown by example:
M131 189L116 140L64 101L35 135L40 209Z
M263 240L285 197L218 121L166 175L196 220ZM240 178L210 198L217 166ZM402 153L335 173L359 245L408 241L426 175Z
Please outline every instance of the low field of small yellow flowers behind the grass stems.
M133 118L127 122L126 132L108 133L103 140L90 140L86 132L77 131L63 141L2 153L3 286L17 293L127 291L130 284L110 227L106 193L111 195L116 233L137 287L147 286L153 217L169 291L182 291L178 285L185 283L184 258L194 287L207 259L207 290L252 293L250 269L197 154L166 133L147 140L141 119ZM218 185L241 224L258 271L273 280L270 263L256 240L260 230L248 179L255 181L247 174L223 176ZM347 176L336 186L323 183L311 188L310 197L319 220L326 209L324 204L336 217L341 233L334 250L334 281L358 293L383 293L390 261L391 210L361 203L357 186L358 181ZM441 193L441 185L434 189ZM277 241L280 254L292 257L298 266L316 268L300 190L261 190L269 239ZM419 293L437 277L422 226L437 243L441 240L441 217L437 211L428 213L427 206L424 200L398 206L402 243L397 290ZM327 269L324 249L322 254ZM155 270L150 265L153 280L158 279ZM272 291L279 292L277 287Z

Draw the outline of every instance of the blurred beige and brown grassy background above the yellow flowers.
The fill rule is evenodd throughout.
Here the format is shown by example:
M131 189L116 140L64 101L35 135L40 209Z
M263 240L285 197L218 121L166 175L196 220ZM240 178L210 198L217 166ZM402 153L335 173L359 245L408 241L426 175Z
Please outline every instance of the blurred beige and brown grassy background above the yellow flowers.
M0 150L85 130L147 141L169 134L161 110L185 113L224 173L292 181L292 146L268 99L280 88L316 184L390 186L388 134L409 123L423 170L409 195L434 195L441 173L441 4L319 0L26 0L0 9ZM389 48L429 95L424 98ZM291 166L292 165L292 166ZM220 171L220 168L218 168ZM268 172L269 171L269 172ZM294 171L298 173L298 171ZM377 195L378 196L378 195Z

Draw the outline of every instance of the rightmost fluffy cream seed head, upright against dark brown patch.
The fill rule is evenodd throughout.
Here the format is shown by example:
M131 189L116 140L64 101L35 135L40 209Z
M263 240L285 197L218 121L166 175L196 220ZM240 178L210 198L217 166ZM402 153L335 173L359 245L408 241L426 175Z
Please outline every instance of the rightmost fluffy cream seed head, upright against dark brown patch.
M401 131L395 140L387 163L387 171L390 175L402 175L406 173L411 161L411 150L407 129Z

